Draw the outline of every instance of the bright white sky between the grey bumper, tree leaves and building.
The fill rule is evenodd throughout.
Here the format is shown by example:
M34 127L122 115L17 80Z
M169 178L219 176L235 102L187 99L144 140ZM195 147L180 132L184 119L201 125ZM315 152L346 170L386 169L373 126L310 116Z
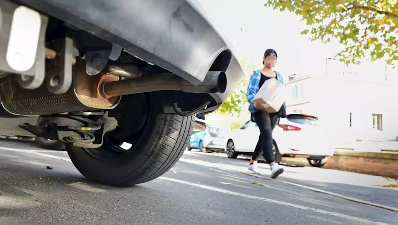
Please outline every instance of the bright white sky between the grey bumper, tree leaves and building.
M264 6L262 0L199 0L211 21L234 46L236 55L245 55L246 63L262 67L262 56L272 48L278 54L275 70L284 78L290 74L322 75L326 71L326 58L333 58L344 46L337 40L323 44L311 42L309 36L300 35L307 28L300 17L288 11L280 12ZM360 74L374 80L384 78L385 64L364 62L346 67L336 60L328 60L328 74ZM392 73L388 68L388 73ZM398 70L394 70L398 76Z

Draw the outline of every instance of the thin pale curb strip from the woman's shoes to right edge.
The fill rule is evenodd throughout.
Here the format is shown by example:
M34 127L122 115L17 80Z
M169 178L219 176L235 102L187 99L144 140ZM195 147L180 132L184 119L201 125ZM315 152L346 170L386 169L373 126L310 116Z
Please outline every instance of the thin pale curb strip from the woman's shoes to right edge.
M264 177L264 176L261 176L261 175L258 175L258 174L252 174L252 173L249 173L249 172L242 172L242 171L238 171L238 170L235 170L235 171L236 172L240 172L242 174L249 175L249 176L254 176L254 177L263 178L263 179L266 179L266 180L271 180L271 181L277 181L277 182L281 182L281 183L285 183L285 184L290 184L290 185L297 186L297 187L300 187L300 188L305 188L305 189L308 189L308 190L312 190L314 192L319 192L319 193L335 196L335 197L338 197L338 198L349 200L351 202L357 202L357 203L361 203L361 204L365 204L365 205L372 205L372 206L379 207L379 208L382 208L382 209L387 209L387 210L390 210L390 211L393 211L393 212L398 212L398 208L390 207L390 206L387 206L387 205L381 205L381 204L378 204L378 203L368 202L368 201L361 200L361 199L358 199L358 198L352 198L352 197L341 195L341 194L337 194L337 193L334 193L334 192L328 192L328 191L325 191L325 190L322 190L322 189L319 189L319 188L312 188L312 187L308 187L308 186L304 186L304 185L301 185L301 184L296 184L296 183L292 183L292 182L288 182L288 181L284 181L284 180L271 179L271 178L267 178L267 177Z

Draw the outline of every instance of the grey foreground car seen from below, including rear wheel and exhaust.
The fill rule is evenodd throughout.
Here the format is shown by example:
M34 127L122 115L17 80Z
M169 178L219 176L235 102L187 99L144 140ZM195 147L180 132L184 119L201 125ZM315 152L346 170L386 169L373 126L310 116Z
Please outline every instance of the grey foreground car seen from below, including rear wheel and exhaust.
M65 143L94 182L167 172L243 77L195 0L0 0L0 134ZM127 146L127 147L126 147Z

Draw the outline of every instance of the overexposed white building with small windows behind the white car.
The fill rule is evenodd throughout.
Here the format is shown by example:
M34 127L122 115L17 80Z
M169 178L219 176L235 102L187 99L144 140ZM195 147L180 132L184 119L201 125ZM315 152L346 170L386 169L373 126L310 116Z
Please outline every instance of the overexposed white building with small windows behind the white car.
M290 76L287 113L319 118L338 143L385 141L398 135L398 90L391 79L341 76ZM398 74L396 74L398 76Z

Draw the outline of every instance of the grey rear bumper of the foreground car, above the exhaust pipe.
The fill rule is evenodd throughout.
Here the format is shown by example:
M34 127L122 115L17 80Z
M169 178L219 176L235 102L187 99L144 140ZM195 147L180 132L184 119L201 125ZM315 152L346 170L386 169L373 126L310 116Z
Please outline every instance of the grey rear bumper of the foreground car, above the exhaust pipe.
M149 63L200 84L215 59L228 59L218 70L228 79L223 94L211 94L222 103L244 73L232 47L209 22L197 0L16 0L42 14L121 46ZM218 106L217 106L218 107Z

